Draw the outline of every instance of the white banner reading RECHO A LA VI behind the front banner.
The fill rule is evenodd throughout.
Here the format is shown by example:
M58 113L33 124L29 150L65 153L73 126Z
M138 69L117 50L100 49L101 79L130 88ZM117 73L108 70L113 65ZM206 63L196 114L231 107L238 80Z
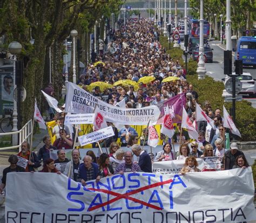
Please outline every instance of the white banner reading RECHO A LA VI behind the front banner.
M202 170L204 168L203 159L197 158L198 162L198 169ZM185 159L176 159L174 161L161 161L161 162L154 162L152 166L153 173L179 173L181 168L183 168L185 164Z

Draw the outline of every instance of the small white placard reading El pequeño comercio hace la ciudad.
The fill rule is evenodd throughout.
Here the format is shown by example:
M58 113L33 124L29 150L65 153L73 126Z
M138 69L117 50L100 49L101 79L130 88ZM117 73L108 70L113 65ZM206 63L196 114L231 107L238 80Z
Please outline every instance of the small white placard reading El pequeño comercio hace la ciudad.
M95 114L69 114L65 116L65 126L67 124L92 124Z

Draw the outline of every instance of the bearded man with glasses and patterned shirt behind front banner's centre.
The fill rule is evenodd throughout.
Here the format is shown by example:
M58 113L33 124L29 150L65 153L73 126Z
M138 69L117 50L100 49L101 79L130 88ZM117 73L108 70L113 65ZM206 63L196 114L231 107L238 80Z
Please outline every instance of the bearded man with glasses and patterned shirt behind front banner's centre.
M125 172L142 172L140 170L140 166L137 163L132 162L132 152L126 151L124 155L124 163L121 163L117 166L114 174L121 174L123 175Z

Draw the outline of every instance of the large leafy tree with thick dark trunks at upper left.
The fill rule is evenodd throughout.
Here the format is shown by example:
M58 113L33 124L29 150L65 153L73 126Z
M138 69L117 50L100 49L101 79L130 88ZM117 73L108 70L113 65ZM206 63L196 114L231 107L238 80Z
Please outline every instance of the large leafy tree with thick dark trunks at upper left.
M118 1L119 2L119 1ZM53 86L59 98L62 86L60 70L63 61L63 40L72 29L78 27L80 13L92 10L91 16L102 16L98 8L114 4L113 0L8 0L1 9L0 34L4 34L10 43L13 40L23 45L21 59L24 64L23 83L27 92L26 100L21 105L23 124L32 118L35 97L41 101L40 89L43 80L49 80L44 72L46 52L52 46L53 51ZM90 30L96 19L90 20ZM30 44L30 32L35 39Z

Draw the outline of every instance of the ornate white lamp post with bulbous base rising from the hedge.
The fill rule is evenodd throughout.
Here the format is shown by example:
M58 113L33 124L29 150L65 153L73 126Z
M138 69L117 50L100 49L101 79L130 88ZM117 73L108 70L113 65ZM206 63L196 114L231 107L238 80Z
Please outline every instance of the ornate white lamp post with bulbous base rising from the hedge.
M205 55L204 55L204 14L203 14L204 0L200 0L200 44L199 44L199 61L198 61L198 79L204 79L206 68L205 68Z

